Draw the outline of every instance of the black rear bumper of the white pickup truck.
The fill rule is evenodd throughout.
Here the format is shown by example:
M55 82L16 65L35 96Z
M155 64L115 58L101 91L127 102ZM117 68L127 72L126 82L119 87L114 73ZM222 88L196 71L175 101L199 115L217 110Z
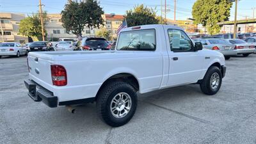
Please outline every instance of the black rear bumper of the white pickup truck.
M35 102L44 102L50 108L58 106L58 97L55 97L52 92L35 83L35 81L27 79L24 81L26 88L28 88L28 96Z

